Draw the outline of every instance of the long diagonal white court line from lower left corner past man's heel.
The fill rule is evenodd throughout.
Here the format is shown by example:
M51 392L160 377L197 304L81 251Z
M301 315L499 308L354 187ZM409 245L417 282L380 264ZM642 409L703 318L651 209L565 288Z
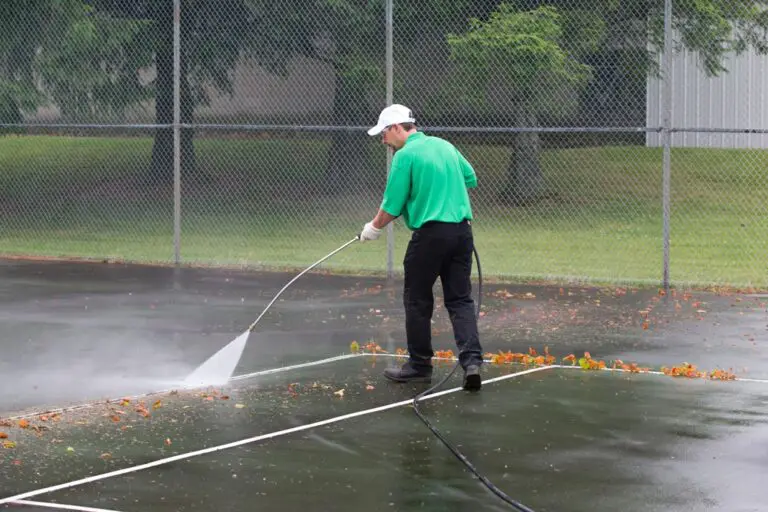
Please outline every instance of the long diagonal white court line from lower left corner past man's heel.
M494 382L501 382L503 380L511 379L513 377L519 377L521 375L527 375L529 373L540 372L542 370L548 370L550 368L551 368L550 366L539 366L537 368L531 368L529 370L524 370L524 371L517 372L517 373L511 373L509 375L503 375L501 377L495 377L493 379L488 379L488 380L485 381L485 384L492 384ZM452 388L452 389L446 389L444 391L439 391L437 393L433 393L431 395L427 395L427 396L425 396L424 398L422 398L419 401L423 402L424 400L429 400L431 398L437 398L439 396L447 395L447 394L450 394L450 393L455 393L455 392L461 391L461 390L462 390L461 387ZM312 429L312 428L322 427L324 425L330 425L331 423L338 423L340 421L345 421L345 420L349 420L349 419L352 419L352 418L357 418L359 416L366 416L368 414L374 414L374 413L377 413L377 412L387 411L389 409L394 409L396 407L402 407L403 405L408 405L408 404L411 404L411 403L413 403L413 399L409 398L408 400L402 400L400 402L394 402L394 403L391 403L391 404L382 405L380 407L374 407L372 409L365 409L365 410L353 412L353 413L350 413L350 414L344 414L342 416L336 416L334 418L329 418L329 419L322 420L322 421L316 421L315 423L309 423L307 425L300 425L298 427L293 427L293 428L289 428L289 429L285 429L285 430L279 430L277 432L271 432L269 434L263 434L263 435L256 436L256 437L251 437L251 438L248 438L248 439L242 439L240 441L235 441L235 442L232 442L232 443L222 444L222 445L219 445L219 446L212 446L210 448L204 448L202 450L196 450L196 451L193 451L193 452L181 453L179 455L174 455L173 457L168 457L166 459L159 459L159 460L155 460L155 461L152 461L152 462L148 462L146 464L140 464L138 466L131 466L131 467L128 467L128 468L118 469L116 471L110 471L108 473L102 473L100 475L93 475L93 476L89 476L89 477L86 477L86 478L81 478L79 480L73 480L71 482L67 482L67 483L63 483L63 484L58 484L58 485L54 485L54 486L51 486L51 487L46 487L46 488L43 488L43 489L38 489L38 490L35 490L35 491L29 491L29 492L25 492L25 493L22 493L22 494L17 494L16 496L10 496L8 498L3 498L3 499L0 499L0 505L3 505L5 503L17 502L19 500L25 500L27 498L33 498L35 496L40 496L41 494L48 494L48 493L51 493L51 492L61 491L61 490L64 490L64 489L70 489L72 487L77 487L79 485L89 484L89 483L93 483L93 482L98 482L99 480L105 480L107 478L114 478L116 476L126 475L128 473L135 473L137 471L142 471L142 470L145 470L145 469L154 468L154 467L157 467L157 466L162 466L164 464L170 464L171 462L176 462L176 461L185 460L185 459L191 459L192 457L199 457L200 455L207 455L209 453L214 453L214 452L221 451L221 450L227 450L229 448L236 448L238 446L243 446L243 445L255 443L255 442L258 442L258 441L263 441L265 439L273 439L275 437L280 437L280 436L284 436L284 435L287 435L287 434L293 434L294 432L301 432L303 430L309 430L309 429Z

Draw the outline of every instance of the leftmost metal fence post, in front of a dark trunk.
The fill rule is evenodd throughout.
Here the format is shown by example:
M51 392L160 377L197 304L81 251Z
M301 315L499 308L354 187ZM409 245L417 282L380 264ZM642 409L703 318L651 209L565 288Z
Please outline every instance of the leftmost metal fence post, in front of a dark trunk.
M181 263L181 0L173 0L173 260Z

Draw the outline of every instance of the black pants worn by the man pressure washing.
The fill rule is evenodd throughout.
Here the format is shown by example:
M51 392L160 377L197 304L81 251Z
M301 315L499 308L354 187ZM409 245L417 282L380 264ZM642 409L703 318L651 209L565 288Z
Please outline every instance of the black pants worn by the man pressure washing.
M431 319L435 303L432 288L438 276L461 366L482 363L472 300L473 244L472 227L466 221L460 224L429 222L413 232L403 260L403 302L408 353L415 368L432 364Z

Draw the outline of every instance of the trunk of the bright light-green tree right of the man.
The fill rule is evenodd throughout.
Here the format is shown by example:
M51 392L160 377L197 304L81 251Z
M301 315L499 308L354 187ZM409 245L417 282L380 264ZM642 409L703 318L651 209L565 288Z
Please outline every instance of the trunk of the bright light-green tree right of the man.
M521 107L517 115L520 127L533 128L537 124L536 114ZM512 206L523 206L538 200L544 188L544 176L539 160L541 140L538 133L521 132L515 137L512 159L509 163L507 183L500 199Z

